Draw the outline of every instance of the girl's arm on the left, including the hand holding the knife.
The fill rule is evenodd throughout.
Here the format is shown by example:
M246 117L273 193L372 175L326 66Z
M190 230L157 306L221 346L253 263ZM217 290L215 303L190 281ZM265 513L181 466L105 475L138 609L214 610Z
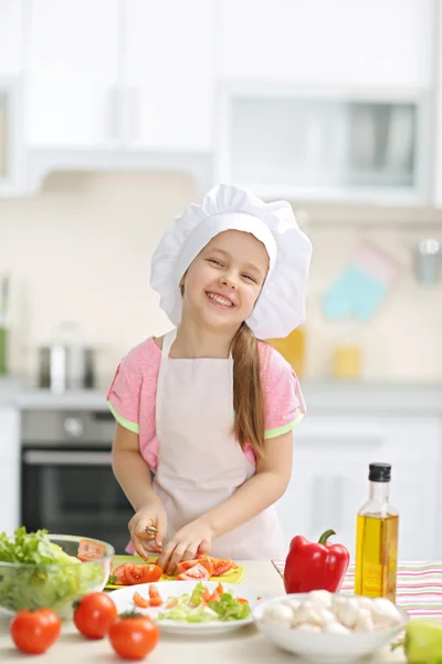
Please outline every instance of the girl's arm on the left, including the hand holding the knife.
M139 454L138 434L117 423L112 450L114 475L131 504L135 516L128 528L130 539L138 556L147 558L149 552L158 552L167 533L167 516L161 500L151 486L150 468ZM147 536L146 528L158 530L155 541Z

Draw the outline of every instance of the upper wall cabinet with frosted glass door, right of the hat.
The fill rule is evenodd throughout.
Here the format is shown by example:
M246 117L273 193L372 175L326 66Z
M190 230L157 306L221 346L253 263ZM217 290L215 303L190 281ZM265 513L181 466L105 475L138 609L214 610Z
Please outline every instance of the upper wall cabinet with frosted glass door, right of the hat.
M428 94L231 84L219 98L219 180L292 200L428 196Z

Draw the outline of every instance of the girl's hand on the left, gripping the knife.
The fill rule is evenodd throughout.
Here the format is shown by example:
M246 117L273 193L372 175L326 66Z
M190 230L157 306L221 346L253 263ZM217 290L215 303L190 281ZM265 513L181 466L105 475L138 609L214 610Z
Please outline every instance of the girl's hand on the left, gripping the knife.
M155 538L146 532L155 526ZM160 501L149 502L139 508L128 523L130 540L140 558L147 560L149 553L160 553L167 535L167 515Z

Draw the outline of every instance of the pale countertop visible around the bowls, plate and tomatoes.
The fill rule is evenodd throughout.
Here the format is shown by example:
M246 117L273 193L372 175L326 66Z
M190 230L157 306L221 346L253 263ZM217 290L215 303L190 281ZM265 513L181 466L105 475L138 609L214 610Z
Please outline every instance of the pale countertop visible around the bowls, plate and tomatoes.
M242 585L249 585L257 593L283 594L284 588L280 574L271 562L239 561L245 568ZM29 655L20 653L13 645L8 632L9 618L0 618L0 661L27 662ZM114 654L108 641L86 641L72 623L65 623L59 641L45 654L39 657L39 664L98 664L123 662ZM302 664L304 661L276 649L253 626L244 627L230 635L187 637L164 635L157 649L147 656L149 664L194 664L211 662L211 664ZM382 649L371 658L365 658L365 664L387 664L406 662L403 652Z

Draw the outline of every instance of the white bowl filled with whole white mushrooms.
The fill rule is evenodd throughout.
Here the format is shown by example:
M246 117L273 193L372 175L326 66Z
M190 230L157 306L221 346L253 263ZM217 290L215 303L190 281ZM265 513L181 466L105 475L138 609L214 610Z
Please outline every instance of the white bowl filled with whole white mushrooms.
M409 615L390 600L314 590L260 602L253 619L280 647L316 663L355 662L391 643Z

